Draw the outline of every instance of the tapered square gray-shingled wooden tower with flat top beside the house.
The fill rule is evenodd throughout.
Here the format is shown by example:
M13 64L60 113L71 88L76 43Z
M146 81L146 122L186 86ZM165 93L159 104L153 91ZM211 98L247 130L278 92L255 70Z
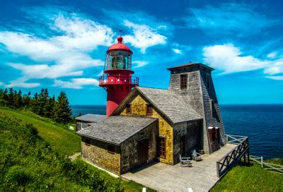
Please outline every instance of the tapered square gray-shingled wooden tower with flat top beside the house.
M192 63L168 68L169 90L203 117L203 150L211 153L226 143L224 124L212 80L213 68Z

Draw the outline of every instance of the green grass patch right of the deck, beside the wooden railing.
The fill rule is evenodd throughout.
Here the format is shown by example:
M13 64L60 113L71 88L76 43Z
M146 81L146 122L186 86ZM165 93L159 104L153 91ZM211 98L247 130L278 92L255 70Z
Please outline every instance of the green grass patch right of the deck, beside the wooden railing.
M273 160L273 163L283 159ZM272 162L272 160L270 160ZM212 191L282 191L283 174L262 169L259 164L233 167Z

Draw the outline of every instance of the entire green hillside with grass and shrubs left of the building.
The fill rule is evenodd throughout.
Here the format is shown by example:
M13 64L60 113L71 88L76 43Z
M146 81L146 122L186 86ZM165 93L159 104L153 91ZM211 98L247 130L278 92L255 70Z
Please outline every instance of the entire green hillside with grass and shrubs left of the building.
M141 191L143 187L83 160L71 162L66 155L79 152L80 137L67 126L28 111L0 107L0 144L0 191Z

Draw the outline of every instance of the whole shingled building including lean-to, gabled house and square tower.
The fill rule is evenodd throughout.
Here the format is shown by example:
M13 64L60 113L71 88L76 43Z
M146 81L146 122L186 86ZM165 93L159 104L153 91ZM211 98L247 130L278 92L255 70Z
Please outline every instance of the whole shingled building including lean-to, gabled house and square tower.
M168 70L168 90L136 86L108 118L77 132L83 159L120 175L154 160L176 164L191 150L212 153L225 145L213 68L190 62Z

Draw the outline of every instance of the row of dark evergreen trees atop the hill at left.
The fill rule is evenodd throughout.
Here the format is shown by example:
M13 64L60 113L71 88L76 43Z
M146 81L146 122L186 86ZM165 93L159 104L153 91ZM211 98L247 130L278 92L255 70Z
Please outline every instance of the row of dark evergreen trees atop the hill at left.
M50 97L47 88L42 88L39 93L35 92L33 97L30 92L23 95L21 90L17 92L13 88L0 89L0 104L17 109L27 108L59 123L66 124L71 121L71 107L64 91L55 98L54 95Z

